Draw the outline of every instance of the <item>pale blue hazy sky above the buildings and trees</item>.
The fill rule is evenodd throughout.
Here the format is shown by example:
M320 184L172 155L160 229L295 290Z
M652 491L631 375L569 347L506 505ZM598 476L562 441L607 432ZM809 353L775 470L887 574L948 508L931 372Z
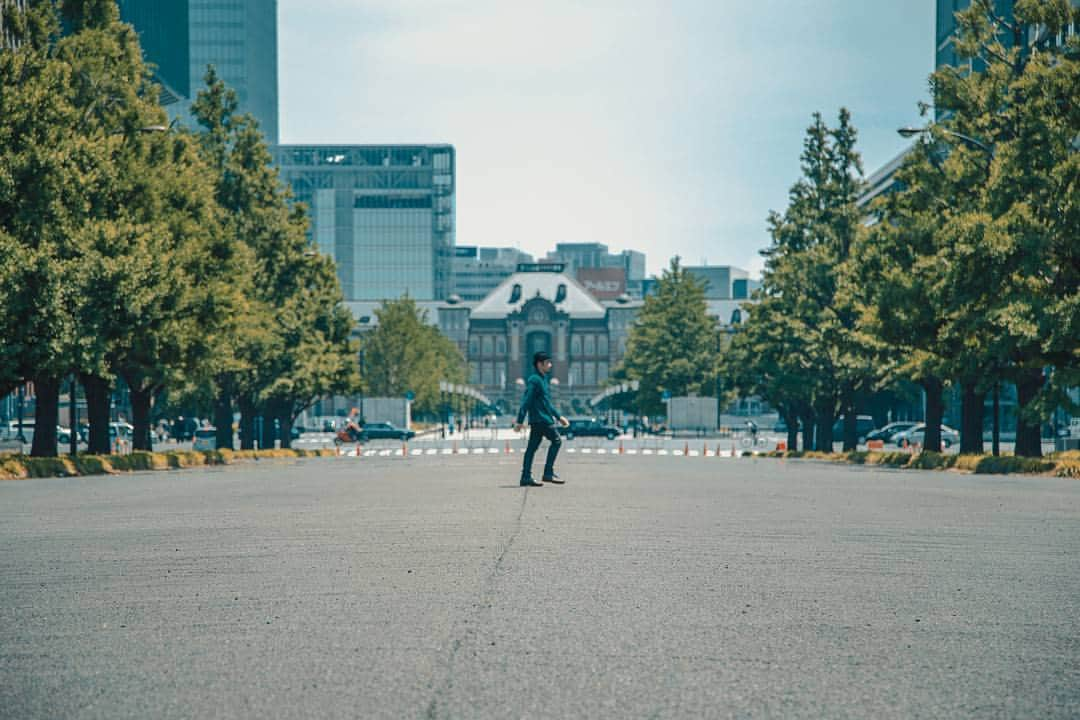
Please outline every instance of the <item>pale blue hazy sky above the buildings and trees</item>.
M758 272L815 111L866 174L918 124L932 0L279 0L281 141L449 142L458 245Z

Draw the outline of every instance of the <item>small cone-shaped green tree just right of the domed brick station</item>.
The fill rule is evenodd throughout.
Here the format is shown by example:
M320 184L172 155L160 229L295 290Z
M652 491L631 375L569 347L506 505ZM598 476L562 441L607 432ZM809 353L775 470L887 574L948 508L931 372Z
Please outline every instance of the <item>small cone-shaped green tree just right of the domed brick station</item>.
M675 257L630 329L617 377L640 382L640 412L662 412L664 391L673 396L714 392L719 342L716 321L707 313L704 283Z

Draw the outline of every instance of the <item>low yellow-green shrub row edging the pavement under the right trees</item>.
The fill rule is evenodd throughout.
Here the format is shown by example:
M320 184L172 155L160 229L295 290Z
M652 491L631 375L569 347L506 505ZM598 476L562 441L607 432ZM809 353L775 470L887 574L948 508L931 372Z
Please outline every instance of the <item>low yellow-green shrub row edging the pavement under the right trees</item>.
M813 452L778 450L766 453L772 458L805 458L846 462L855 465L883 465L913 470L960 470L976 475L1009 475L1021 473L1042 475L1053 472L1057 477L1080 477L1080 452L1059 452L1047 458L1015 456L944 454L941 452Z

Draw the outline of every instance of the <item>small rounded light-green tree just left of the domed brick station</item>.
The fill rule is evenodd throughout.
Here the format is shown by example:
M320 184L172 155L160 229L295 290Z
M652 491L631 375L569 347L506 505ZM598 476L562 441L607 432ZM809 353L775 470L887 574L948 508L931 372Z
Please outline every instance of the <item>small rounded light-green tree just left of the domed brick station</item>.
M361 339L367 392L396 397L411 391L418 411L437 412L438 382L465 382L461 351L408 296L384 301L375 316L378 326Z

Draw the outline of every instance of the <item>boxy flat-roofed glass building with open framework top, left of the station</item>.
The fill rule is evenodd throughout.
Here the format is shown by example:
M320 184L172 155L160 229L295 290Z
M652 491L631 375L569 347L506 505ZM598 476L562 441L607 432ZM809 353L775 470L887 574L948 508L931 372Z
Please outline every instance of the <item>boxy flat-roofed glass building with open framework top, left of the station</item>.
M282 145L282 180L337 262L346 300L450 295L455 153L449 145Z

